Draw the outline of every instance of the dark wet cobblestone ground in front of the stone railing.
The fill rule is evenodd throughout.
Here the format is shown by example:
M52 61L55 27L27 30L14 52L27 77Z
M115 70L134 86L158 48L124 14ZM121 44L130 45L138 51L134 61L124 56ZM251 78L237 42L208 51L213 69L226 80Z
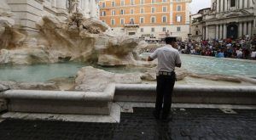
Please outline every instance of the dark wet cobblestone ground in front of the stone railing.
M151 108L122 113L119 124L61 122L47 120L4 120L0 140L160 140L160 139L256 139L256 110L175 109L173 120L154 120Z

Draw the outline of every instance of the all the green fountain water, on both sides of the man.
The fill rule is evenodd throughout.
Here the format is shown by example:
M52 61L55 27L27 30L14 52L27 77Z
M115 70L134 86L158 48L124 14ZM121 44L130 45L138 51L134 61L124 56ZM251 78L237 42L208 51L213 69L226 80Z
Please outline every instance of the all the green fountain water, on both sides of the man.
M256 63L217 58L182 55L183 68L197 74L256 77ZM59 63L35 65L1 65L0 81L44 82L60 77L75 76L77 71L89 64ZM114 73L143 72L143 68L94 67Z

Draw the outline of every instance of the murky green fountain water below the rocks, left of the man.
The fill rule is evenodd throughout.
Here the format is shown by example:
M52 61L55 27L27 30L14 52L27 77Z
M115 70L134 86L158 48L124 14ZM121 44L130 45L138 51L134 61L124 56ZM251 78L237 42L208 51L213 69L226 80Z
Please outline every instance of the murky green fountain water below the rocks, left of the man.
M76 76L80 68L89 65L84 63L0 65L0 81L44 82L55 78L68 78ZM113 73L143 71L140 68L92 66Z

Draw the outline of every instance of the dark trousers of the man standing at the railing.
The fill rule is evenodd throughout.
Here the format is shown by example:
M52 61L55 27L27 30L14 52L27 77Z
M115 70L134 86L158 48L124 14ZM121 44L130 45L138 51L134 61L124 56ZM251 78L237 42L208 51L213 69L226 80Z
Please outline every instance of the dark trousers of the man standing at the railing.
M162 110L162 119L166 119L170 113L172 105L172 90L175 84L175 73L172 72L171 76L160 75L156 77L156 102L155 102L155 114L160 116ZM162 104L164 105L162 107Z

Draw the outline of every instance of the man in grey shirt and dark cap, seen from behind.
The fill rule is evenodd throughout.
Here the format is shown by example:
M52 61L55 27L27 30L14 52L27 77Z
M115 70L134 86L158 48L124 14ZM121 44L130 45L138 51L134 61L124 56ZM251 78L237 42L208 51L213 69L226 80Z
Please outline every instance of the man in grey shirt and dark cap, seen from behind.
M155 119L172 120L169 118L172 105L172 90L176 81L175 66L181 67L181 59L177 49L175 49L176 38L166 37L166 46L158 48L148 57L148 61L158 59L157 64L157 87L156 101L153 112ZM164 104L163 104L164 102Z

